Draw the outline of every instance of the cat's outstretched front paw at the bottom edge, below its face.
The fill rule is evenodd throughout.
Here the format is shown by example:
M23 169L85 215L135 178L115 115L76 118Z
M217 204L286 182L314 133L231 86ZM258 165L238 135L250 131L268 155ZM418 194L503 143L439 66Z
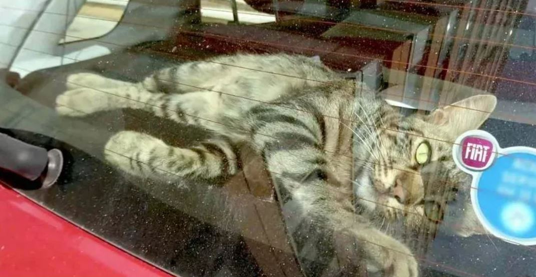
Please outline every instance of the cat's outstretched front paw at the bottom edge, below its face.
M382 271L385 277L419 276L419 265L403 243L379 231L363 240L370 271Z

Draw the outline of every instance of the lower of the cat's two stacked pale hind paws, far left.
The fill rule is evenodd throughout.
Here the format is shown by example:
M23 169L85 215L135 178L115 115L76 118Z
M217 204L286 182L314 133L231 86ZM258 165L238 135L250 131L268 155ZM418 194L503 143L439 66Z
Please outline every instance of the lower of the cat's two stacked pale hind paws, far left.
M84 116L107 110L109 97L91 88L68 90L56 97L56 112L66 116Z

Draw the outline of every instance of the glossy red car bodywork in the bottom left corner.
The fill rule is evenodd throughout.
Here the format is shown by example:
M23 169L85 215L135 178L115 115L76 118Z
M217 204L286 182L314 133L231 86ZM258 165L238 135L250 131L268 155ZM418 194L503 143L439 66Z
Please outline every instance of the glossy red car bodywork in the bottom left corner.
M172 276L0 183L0 276Z

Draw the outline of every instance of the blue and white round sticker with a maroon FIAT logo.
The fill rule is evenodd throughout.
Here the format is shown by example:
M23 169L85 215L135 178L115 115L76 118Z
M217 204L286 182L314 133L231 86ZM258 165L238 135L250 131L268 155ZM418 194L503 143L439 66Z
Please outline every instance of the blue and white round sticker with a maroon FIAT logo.
M536 245L536 149L501 149L482 130L464 133L452 155L473 176L471 202L482 225L503 240Z

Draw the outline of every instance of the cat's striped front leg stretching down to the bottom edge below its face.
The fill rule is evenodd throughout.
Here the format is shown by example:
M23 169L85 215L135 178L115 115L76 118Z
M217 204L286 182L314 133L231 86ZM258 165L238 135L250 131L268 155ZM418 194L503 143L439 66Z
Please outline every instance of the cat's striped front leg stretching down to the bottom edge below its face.
M299 116L288 109L259 111L265 115L256 116L259 132L253 134L253 140L271 173L287 230L304 271L310 276L337 272L333 265L342 257L352 266L364 263L386 277L418 276L411 251L355 214L349 201L351 189L330 181L330 166L322 149L321 132L315 132L320 127L315 118ZM282 118L280 114L287 116L284 121L277 120ZM346 240L355 249L337 243L341 232L349 236ZM351 253L350 249L363 255Z

